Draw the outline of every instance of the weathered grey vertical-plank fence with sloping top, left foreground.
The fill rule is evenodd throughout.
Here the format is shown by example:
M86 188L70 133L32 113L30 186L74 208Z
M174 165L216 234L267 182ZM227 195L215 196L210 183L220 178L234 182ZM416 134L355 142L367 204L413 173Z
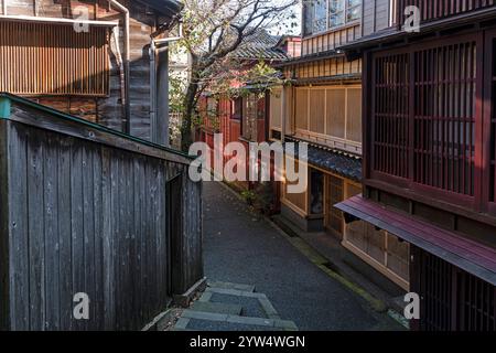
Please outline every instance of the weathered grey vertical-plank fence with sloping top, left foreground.
M139 330L201 279L188 162L0 95L0 329Z

